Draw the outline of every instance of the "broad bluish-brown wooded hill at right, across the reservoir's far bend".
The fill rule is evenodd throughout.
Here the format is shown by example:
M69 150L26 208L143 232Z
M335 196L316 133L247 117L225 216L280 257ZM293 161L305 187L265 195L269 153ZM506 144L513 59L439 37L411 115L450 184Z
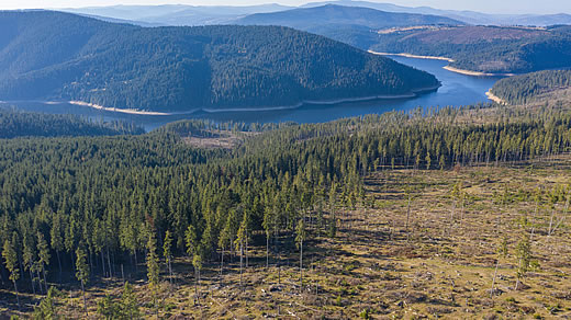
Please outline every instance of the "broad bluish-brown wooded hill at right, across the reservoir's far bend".
M488 73L525 73L571 67L566 27L530 30L460 26L374 36L372 50L451 58L451 67Z

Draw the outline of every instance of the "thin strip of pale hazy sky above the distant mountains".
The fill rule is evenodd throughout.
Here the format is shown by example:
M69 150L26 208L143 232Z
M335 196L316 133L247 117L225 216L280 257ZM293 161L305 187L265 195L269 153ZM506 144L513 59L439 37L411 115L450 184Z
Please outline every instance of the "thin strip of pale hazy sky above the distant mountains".
M315 0L320 1L320 0ZM474 10L490 13L571 13L570 0L370 0L407 7ZM312 0L0 0L0 9L78 8L111 4L247 5L277 2L299 5Z

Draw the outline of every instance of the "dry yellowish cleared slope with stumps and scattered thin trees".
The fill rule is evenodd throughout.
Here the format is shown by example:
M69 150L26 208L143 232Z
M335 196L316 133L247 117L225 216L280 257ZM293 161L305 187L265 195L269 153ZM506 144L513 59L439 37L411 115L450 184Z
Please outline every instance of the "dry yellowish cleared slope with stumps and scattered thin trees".
M533 167L531 167L533 165ZM533 168L533 169L531 169ZM281 272L276 259L265 267L265 240L253 248L249 267L239 286L238 260L224 268L203 271L194 295L189 261L178 260L176 285L164 284L164 319L355 319L369 310L372 319L562 319L571 317L571 217L551 236L555 212L564 203L546 199L538 206L528 196L571 181L571 156L510 167L475 167L451 171L395 170L371 174L368 196L374 208L339 213L335 239L312 236L304 256L303 289L299 286L299 255L290 243L282 248ZM466 202L451 196L462 182ZM412 195L408 232L406 212ZM456 207L452 215L452 208ZM555 210L553 210L555 208ZM523 225L524 218L528 224ZM515 290L516 245L533 230L536 267ZM315 233L314 233L315 235ZM499 254L503 239L508 254ZM282 243L289 243L286 238ZM491 296L495 261L500 259L495 292ZM222 281L222 285L221 285ZM279 282L279 284L278 284ZM97 299L120 295L121 282L107 282L89 290L90 315ZM144 281L136 293L146 317L150 296ZM66 293L66 297L69 293ZM66 318L81 319L78 292L64 298Z

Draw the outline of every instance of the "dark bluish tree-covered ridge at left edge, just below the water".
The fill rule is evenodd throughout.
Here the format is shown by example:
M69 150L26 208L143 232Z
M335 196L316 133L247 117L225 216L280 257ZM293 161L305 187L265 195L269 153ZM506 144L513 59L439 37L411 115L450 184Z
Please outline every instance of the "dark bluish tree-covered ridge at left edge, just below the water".
M0 138L138 135L143 128L123 122L92 122L74 115L21 112L0 107Z

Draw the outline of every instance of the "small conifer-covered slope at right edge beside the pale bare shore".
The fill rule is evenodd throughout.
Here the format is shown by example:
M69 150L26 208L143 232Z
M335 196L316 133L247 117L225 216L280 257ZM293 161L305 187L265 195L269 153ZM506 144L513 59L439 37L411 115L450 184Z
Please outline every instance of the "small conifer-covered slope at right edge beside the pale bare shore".
M511 104L524 104L566 89L571 89L571 70L547 70L502 79L492 93Z

